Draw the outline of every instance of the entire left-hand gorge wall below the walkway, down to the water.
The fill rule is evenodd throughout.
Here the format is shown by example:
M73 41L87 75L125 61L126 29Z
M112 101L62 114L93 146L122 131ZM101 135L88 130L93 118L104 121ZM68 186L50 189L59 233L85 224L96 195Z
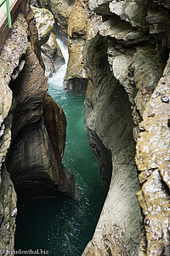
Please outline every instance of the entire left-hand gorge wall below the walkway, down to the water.
M19 203L40 196L74 196L74 178L61 164L65 114L47 95L48 83L35 24L28 1L26 17L22 13L18 15L0 54L0 250L3 255L14 249L15 190ZM55 143L53 136L58 138Z

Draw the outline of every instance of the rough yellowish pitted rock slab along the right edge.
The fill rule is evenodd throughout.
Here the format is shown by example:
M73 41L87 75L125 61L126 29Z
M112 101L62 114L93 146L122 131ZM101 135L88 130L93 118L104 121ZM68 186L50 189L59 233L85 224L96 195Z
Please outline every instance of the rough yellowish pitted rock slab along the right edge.
M144 227L148 241L147 253L169 251L169 143L168 119L170 60L150 101L143 113L143 121L137 140L136 163L141 172L139 181L142 189L138 193L139 204L144 212Z

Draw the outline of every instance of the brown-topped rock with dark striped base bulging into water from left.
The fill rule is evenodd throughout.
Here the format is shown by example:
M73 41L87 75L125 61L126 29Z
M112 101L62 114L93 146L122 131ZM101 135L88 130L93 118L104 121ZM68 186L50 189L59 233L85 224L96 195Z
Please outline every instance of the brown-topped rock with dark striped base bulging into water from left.
M12 145L7 160L7 170L19 203L60 193L74 196L74 178L61 164L65 148L65 114L59 107L57 111L52 99L45 101L49 97L47 79L29 42L20 63L24 63L24 67L10 83L13 105L8 119L12 119ZM48 102L49 113L45 113L45 102ZM45 125L48 125L50 137L42 113L46 116ZM50 113L53 117L51 122ZM53 136L58 136L56 143Z

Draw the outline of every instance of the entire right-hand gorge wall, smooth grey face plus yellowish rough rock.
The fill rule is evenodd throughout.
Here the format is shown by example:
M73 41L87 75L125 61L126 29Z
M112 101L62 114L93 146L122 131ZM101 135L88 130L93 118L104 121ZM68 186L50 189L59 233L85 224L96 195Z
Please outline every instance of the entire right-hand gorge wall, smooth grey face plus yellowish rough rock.
M84 54L85 122L111 150L113 171L82 255L169 255L169 5L88 6L103 22Z

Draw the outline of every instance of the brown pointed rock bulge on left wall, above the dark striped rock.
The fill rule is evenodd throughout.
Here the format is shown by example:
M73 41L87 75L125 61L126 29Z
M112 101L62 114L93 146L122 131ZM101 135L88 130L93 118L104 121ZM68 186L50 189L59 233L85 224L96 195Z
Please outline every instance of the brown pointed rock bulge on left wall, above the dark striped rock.
M11 84L14 93L13 137L21 128L41 118L43 99L48 90L42 67L30 47L24 61L26 64L22 73Z

